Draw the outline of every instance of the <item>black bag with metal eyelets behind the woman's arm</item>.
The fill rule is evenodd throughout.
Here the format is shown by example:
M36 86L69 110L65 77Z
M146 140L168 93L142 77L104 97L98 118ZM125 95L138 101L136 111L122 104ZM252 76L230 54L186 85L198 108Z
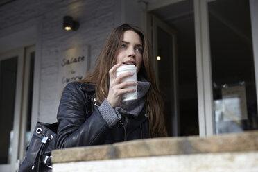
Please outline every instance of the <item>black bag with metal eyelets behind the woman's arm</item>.
M37 122L19 172L50 172L51 150L55 149L58 123Z

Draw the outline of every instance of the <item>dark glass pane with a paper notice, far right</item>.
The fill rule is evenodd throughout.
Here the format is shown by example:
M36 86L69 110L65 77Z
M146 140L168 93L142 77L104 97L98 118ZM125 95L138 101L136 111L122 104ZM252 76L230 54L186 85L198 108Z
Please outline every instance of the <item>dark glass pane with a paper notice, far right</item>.
M249 1L216 0L207 6L214 132L258 129Z

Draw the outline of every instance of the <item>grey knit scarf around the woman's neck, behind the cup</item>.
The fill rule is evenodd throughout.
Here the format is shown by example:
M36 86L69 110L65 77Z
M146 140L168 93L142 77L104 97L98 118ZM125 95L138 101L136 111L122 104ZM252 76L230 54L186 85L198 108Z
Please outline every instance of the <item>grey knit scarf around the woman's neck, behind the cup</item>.
M144 107L145 95L150 88L150 83L143 77L137 80L137 100L121 102L119 107L116 107L114 110L119 112L119 114L132 115L137 117Z

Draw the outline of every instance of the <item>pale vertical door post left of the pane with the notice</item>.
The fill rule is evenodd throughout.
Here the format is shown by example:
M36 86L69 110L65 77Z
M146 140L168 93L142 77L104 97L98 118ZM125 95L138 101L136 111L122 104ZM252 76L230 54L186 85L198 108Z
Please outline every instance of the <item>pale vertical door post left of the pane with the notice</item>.
M200 136L214 134L214 107L212 92L212 64L209 44L209 17L207 1L194 0L196 32L196 72L198 90L198 117Z

